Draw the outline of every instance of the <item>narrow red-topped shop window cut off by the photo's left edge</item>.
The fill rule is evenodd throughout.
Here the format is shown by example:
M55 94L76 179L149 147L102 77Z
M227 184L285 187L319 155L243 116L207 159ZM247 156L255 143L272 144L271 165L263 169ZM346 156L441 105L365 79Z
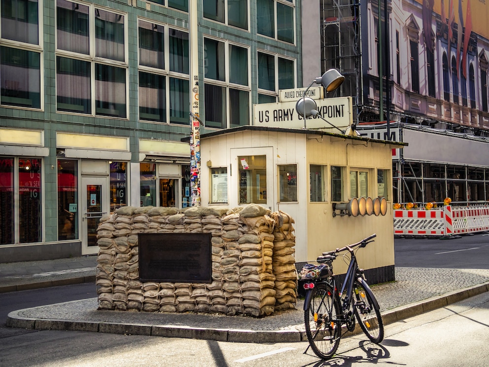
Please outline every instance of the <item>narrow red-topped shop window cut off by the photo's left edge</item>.
M14 243L14 159L0 159L0 245Z

